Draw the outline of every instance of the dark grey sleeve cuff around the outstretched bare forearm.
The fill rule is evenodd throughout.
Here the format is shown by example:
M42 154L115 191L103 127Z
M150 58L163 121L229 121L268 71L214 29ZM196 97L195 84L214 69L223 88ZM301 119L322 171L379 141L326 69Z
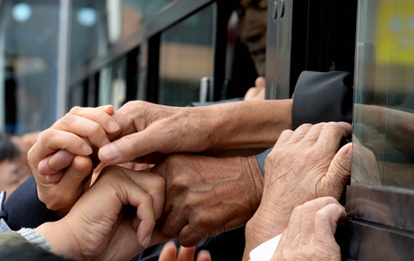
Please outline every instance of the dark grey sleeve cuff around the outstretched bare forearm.
M345 71L304 71L297 80L292 106L292 129L304 123L351 123L353 75Z

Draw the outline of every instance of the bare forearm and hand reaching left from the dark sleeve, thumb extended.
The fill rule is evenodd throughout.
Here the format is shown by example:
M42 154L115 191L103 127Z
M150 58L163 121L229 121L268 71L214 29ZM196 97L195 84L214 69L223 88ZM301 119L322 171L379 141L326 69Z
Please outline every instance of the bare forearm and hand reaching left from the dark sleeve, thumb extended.
M112 117L120 127L99 150L106 164L158 163L174 152L236 151L254 155L270 148L291 126L291 100L171 107L127 102Z

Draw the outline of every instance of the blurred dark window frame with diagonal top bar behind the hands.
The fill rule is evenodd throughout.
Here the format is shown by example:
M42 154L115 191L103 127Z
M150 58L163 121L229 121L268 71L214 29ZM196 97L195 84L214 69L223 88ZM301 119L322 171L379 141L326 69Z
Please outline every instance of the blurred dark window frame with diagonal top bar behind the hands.
M117 44L111 45L108 52L101 57L97 57L91 61L85 71L77 72L69 77L69 86L76 86L79 82L85 82L85 79L91 78L93 75L100 73L100 69L110 65L114 61L122 57L126 57L128 65L132 65L136 60L139 50L140 55L140 72L139 84L134 90L130 90L130 83L128 82L127 99L146 100L149 102L158 102L158 66L159 66L159 40L160 34L174 26L176 23L188 18L195 12L207 7L209 4L217 3L218 15L216 18L216 37L215 37L215 61L214 61L214 77L215 86L223 85L225 73L225 42L226 42L226 27L223 23L226 20L226 2L217 0L179 0L166 5L162 10L155 14L150 20L146 21L142 29L136 31L130 37L118 41ZM128 75L132 75L132 70ZM128 77L132 79L133 77ZM93 89L99 89L99 81L90 82L93 84ZM221 99L221 88L215 88L215 100ZM86 106L97 106L99 104L85 104Z

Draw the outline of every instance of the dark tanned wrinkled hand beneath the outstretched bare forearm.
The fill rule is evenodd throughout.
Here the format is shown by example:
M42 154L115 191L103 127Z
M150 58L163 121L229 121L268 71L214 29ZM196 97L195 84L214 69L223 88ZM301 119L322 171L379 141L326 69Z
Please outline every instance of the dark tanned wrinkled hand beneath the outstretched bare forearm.
M162 232L183 246L237 228L255 213L263 190L256 158L174 154L151 172L166 179Z

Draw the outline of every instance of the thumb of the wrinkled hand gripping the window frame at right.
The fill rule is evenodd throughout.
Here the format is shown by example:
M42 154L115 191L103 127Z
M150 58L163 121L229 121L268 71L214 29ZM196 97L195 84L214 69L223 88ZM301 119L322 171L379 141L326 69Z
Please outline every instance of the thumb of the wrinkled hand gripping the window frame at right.
M346 144L337 151L334 159L330 162L327 175L323 180L325 184L321 187L325 188L326 191L322 192L322 196L332 196L337 200L340 198L345 184L351 177L352 151L352 143Z

